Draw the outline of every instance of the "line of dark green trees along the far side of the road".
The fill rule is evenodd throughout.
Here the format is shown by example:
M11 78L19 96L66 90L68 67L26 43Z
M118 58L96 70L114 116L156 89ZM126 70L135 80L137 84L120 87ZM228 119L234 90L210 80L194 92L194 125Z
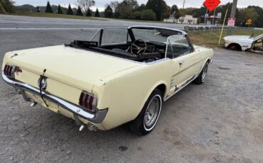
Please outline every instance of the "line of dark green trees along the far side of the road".
M4 6L4 9L8 13L16 11L13 0L0 0L0 4ZM110 1L105 6L104 12L99 12L96 9L95 13L90 9L95 6L95 0L77 0L77 9L73 9L70 4L68 9L65 9L58 5L53 9L48 1L45 6L45 12L47 13L58 13L68 14L77 16L104 16L106 18L124 18L124 19L136 19L136 20L147 20L147 21L163 21L163 18L179 18L180 16L192 15L198 18L198 23L203 23L203 16L207 12L204 6L200 8L186 8L178 9L178 6L168 6L164 0L148 0L146 4L140 4L136 0L123 0L123 1ZM222 19L225 17L225 13L228 9L227 18L230 18L230 11L232 3L220 5L215 9L215 13L222 13ZM41 12L41 7L36 7L37 12ZM0 9L1 13L1 9ZM208 12L210 16L213 16L214 11ZM263 9L259 6L247 6L246 8L237 9L236 13L236 26L246 26L246 22L249 18L252 19L252 26L263 27ZM222 23L222 21L221 21Z

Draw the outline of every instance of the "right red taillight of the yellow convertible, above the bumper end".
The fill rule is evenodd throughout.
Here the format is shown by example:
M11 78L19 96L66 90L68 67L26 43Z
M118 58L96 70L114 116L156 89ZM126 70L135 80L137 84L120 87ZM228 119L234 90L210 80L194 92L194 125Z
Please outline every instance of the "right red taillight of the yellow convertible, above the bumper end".
M79 104L87 111L95 112L97 109L97 96L89 94L87 91L82 91Z

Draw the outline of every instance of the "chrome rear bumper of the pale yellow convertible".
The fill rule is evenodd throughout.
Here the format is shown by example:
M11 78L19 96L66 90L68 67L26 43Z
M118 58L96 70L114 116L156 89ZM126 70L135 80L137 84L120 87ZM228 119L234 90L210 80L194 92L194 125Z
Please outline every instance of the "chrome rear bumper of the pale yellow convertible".
M28 84L25 84L19 81L11 80L8 77L6 77L4 72L2 72L2 77L4 81L6 81L7 84L14 86L16 89L19 89L21 91L28 91L31 94L41 96L40 90L36 89L33 86L30 86ZM70 111L74 115L80 116L81 118L89 120L92 123L102 123L102 121L107 115L108 109L97 110L95 113L90 113L90 112L85 111L85 109L81 108L80 106L75 105L74 103L70 103L63 99L60 99L59 97L48 94L45 91L42 91L42 96L43 96L43 99L51 101L57 104L58 106L60 106L61 108L65 108L66 110Z

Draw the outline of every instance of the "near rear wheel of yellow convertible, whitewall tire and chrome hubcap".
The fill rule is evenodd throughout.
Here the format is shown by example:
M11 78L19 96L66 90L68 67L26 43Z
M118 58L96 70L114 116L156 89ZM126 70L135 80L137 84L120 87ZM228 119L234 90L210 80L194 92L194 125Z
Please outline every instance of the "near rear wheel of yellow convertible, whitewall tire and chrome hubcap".
M155 89L144 104L139 116L129 123L129 128L138 135L146 135L154 130L161 113L162 103L161 91Z

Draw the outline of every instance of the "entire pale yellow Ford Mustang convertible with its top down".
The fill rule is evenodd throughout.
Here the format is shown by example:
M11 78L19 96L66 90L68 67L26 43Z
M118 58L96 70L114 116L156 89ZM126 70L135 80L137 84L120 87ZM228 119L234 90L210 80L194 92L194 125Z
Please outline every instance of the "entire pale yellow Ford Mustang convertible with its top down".
M80 130L128 123L146 135L163 101L192 81L203 84L212 58L181 30L104 28L90 41L7 52L2 77L31 106L73 118Z

